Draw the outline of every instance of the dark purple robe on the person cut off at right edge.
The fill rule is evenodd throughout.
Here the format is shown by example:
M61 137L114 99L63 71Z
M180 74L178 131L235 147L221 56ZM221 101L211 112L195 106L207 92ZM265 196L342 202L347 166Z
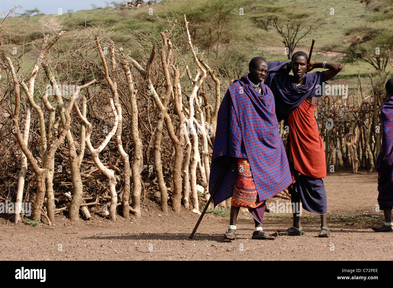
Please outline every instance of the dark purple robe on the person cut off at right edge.
M382 145L376 160L378 204L380 209L393 207L393 96L381 109Z

